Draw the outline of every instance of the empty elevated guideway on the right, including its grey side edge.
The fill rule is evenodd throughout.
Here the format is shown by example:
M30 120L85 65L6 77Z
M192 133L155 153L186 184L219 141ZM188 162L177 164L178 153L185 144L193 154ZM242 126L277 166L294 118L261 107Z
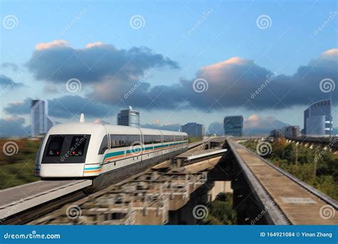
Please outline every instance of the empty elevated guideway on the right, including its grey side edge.
M253 195L266 210L269 223L337 225L337 201L299 181L232 140L227 144L242 168ZM322 208L332 210L325 218Z

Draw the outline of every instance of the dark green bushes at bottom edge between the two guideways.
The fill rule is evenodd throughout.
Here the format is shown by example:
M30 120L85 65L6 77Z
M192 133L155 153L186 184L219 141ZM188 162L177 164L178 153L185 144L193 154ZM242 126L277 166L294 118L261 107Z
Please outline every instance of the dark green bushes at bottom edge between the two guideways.
M209 214L202 225L235 225L236 212L232 210L232 193L220 193L207 205Z

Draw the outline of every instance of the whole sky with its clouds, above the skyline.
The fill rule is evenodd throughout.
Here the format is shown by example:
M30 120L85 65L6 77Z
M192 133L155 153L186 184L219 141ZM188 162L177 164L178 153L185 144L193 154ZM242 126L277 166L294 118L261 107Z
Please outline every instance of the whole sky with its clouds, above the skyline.
M334 1L143 5L51 1L29 18L29 4L1 2L0 135L29 131L36 98L61 123L85 113L115 124L130 105L143 126L195 121L212 133L242 115L256 133L302 128L303 111L331 94L338 120Z

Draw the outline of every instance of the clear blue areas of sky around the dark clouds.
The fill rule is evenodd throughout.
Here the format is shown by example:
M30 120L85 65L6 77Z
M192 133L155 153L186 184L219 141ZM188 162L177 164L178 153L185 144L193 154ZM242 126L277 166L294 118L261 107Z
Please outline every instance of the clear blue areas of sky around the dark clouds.
M27 114L6 113L4 108L9 103L21 102L25 98L50 100L69 95L91 99L90 94L93 94L93 91L98 92L98 88L93 87L96 81L82 82L81 91L74 94L67 93L61 82L37 78L40 71L29 69L27 63L34 52L37 54L36 45L41 43L63 40L66 41L66 46L74 50L85 49L87 44L98 41L113 45L118 50L146 46L153 54L160 54L178 63L179 68L173 68L167 63L153 69L149 66L140 71L144 75L151 70L151 75L147 78L150 88L167 88L183 80L193 81L200 73L205 73L203 67L221 63L232 57L253 61L268 73L294 76L299 66L307 66L325 51L337 49L338 16L334 14L335 11L337 1L1 1L1 19L14 15L18 20L14 29L6 29L4 24L1 26L1 63L14 63L19 68L14 70L3 66L0 74L23 83L24 86L1 96L0 118L19 116L26 118L25 124L29 124ZM314 31L327 21L330 13L334 17L325 24L322 31L314 34ZM144 26L140 29L130 28L130 18L135 15L144 19ZM262 15L270 17L270 26L267 29L257 26L257 18ZM48 66L47 63L46 65ZM255 71L250 73L252 76L257 74ZM210 73L206 76L208 75ZM337 73L329 73L329 78L335 80ZM128 82L133 80L135 78L129 77ZM101 87L116 81L109 82L102 81ZM250 82L250 78L245 82ZM260 81L262 82L264 80ZM212 83L211 80L210 90ZM54 86L58 89L54 89ZM46 87L58 91L46 92ZM186 87L182 86L182 89ZM321 93L319 89L317 92ZM188 99L189 95L185 96ZM321 94L319 97L323 96ZM317 99L314 93L308 97ZM215 109L201 104L193 105L193 102L183 109L148 109L149 106L138 107L137 101L134 99L130 105L142 112L142 123L182 124L198 121L207 128L210 123L221 122L225 115L232 113L240 113L246 118L252 114L260 118L273 116L285 123L302 126L302 111L307 107L306 102L298 101L294 105L287 103L278 109L274 107L275 102L271 104L271 108L242 108L243 102L239 101L237 106L227 106L225 99L224 106ZM114 111L103 118L105 121L116 123L116 111L120 108L116 106L116 100L98 99L96 102L113 106ZM128 103L130 100L120 105L123 107L129 105ZM86 113L86 109L83 111ZM100 116L102 117L102 114ZM100 116L93 114L92 119L103 119ZM337 115L333 116L337 121ZM73 118L54 116L53 119L67 121Z

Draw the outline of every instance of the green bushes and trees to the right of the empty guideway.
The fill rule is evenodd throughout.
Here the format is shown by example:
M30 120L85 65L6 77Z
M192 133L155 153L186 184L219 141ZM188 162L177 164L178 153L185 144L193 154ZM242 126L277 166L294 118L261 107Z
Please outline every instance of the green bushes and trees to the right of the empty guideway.
M243 146L256 152L257 142L246 141ZM287 143L280 138L271 143L272 152L265 156L276 166L338 200L338 155L314 146L313 149ZM319 156L322 155L322 156Z

